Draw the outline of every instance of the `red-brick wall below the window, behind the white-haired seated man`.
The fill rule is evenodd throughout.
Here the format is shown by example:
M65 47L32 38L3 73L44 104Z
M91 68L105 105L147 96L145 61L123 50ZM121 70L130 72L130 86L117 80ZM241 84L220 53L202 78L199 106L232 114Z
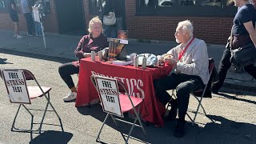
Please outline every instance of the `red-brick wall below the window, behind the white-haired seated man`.
M186 19L194 24L194 36L206 42L225 44L230 35L233 18L135 16L136 0L125 2L129 38L174 41L178 22Z

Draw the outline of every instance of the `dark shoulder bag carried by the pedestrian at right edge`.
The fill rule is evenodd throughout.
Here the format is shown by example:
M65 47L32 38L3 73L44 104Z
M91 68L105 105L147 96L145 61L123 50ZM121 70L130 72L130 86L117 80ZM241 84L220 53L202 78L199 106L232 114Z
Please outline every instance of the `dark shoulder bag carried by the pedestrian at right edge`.
M235 67L244 67L256 62L256 49L253 42L230 51L230 62Z

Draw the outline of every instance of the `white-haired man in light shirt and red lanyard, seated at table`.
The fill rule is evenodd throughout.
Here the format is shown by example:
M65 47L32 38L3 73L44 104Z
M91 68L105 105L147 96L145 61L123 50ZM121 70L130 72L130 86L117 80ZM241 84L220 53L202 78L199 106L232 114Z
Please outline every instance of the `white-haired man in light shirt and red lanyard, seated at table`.
M178 123L174 130L175 137L185 134L185 115L189 104L190 93L202 89L208 82L208 54L206 43L193 37L193 26L189 20L178 23L175 32L176 42L181 43L167 54L158 56L158 62L174 66L174 72L166 78L154 81L154 90L160 102L170 102L170 94L166 90L177 90L178 99L172 99L169 117L176 118Z

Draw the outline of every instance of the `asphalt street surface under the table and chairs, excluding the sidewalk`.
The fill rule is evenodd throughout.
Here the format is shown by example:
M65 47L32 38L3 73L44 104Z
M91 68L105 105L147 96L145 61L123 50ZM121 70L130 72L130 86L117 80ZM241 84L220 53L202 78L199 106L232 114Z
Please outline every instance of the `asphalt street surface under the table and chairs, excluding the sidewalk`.
M50 112L46 115L42 134L19 133L10 131L17 104L10 103L4 82L0 80L0 143L97 143L98 130L106 116L100 105L89 107L74 106L74 102L63 102L62 97L69 93L68 88L58 75L58 66L66 60L47 58L27 54L0 53L0 69L24 68L32 71L42 86L51 86L51 102L62 118L65 132L58 124L58 118ZM74 82L78 78L74 75ZM203 105L207 116L198 115L197 125L186 122L186 136L172 136L175 122L166 122L164 127L146 126L147 135L135 128L129 143L255 143L256 142L256 93L242 90L223 89L213 98L204 98ZM29 106L34 111L35 121L42 117L42 109L46 101L42 98L32 101ZM196 101L190 98L189 114L196 108ZM210 118L214 121L210 121ZM145 123L144 123L145 124ZM30 115L25 110L18 116L18 126L29 128ZM37 126L35 125L34 128ZM102 140L110 143L124 143L121 130L128 133L129 126L121 124L119 128L112 121L103 128Z

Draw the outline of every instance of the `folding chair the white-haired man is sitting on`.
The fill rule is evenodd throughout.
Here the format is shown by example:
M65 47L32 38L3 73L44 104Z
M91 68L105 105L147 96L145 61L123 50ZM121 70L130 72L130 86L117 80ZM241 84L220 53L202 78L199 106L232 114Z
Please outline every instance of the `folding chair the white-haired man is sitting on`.
M211 76L211 74L212 74L212 72L213 72L213 70L214 70L214 59L213 59L213 58L209 58L209 66L208 66L208 69L209 69L209 75ZM210 80L209 80L209 82L210 82ZM209 82L208 82L208 83L209 83ZM208 84L207 84L207 85L208 85ZM196 118L197 115L198 115L198 110L199 110L200 106L202 107L202 110L203 110L204 114L207 115L207 114L206 114L206 110L205 110L204 107L202 106L202 98L203 98L204 94L206 93L207 85L205 85L201 90L194 91L194 93L191 93L191 94L190 94L190 95L193 95L194 98L196 98L196 100L198 101L198 107L197 107L197 110L194 112L194 118L192 119L192 118L190 117L190 115L186 113L186 115L190 118L190 121L192 122L192 125L194 125L194 123L195 123L195 118ZM195 93L200 93L200 96L198 97L198 96L197 96L198 94L196 95ZM172 99L173 97L174 97L174 98L177 98L177 96L176 96L176 94L175 94L175 90L172 90L171 99ZM166 107L166 110L168 110L169 107L171 107L170 102L168 102L167 107Z

